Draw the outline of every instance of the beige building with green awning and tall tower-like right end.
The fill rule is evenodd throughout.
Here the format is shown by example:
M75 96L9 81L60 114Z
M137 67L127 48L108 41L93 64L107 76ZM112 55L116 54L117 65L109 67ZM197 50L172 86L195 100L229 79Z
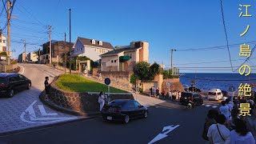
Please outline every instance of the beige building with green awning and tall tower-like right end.
M136 62L149 62L149 43L130 42L100 56L102 71L133 71Z

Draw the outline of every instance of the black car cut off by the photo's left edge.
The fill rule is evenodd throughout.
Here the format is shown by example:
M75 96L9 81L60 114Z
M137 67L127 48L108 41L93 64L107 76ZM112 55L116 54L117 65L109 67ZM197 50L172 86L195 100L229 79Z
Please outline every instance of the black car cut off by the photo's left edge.
M0 96L13 97L21 90L30 90L31 81L22 74L0 73Z

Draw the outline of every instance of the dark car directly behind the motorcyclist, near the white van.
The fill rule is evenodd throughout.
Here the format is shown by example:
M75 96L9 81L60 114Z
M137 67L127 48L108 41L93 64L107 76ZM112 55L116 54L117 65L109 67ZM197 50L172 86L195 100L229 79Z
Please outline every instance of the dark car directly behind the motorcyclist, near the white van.
M182 92L179 102L182 105L185 105L188 98L193 98L193 102L197 106L201 106L203 104L203 99L201 94L190 93L190 92Z

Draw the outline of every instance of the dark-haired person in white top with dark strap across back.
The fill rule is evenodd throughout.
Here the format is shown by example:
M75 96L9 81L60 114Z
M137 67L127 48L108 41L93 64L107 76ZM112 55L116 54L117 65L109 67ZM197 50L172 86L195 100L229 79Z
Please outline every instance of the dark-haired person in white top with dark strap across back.
M211 143L230 144L230 130L225 126L226 117L223 114L218 114L216 124L209 127L207 137Z

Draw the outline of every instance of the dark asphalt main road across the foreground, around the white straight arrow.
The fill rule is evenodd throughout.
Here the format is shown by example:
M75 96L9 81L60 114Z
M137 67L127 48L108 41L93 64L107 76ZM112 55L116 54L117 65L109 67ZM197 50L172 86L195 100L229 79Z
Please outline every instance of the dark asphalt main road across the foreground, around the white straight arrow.
M128 124L94 118L2 137L0 143L149 143L162 133L160 136L166 134L166 138L155 143L200 144L205 143L202 128L210 109L206 106L192 110L150 107L148 118ZM178 127L162 131L165 126Z

